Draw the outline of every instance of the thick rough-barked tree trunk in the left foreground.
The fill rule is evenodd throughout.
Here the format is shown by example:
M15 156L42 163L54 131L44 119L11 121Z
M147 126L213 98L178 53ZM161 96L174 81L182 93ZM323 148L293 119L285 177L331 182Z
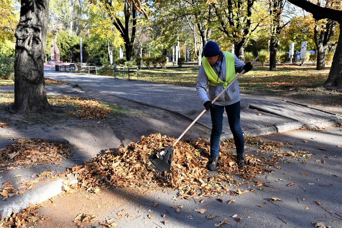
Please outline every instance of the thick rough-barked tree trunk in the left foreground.
M15 30L14 105L18 113L49 111L44 54L50 0L22 0Z

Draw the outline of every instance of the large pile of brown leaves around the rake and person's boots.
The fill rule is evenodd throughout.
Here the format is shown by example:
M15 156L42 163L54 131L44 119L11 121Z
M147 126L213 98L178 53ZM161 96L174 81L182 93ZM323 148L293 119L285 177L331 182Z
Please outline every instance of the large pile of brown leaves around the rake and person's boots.
M250 180L267 171L266 166L272 165L254 156L246 156L248 165L241 169L237 166L232 152L227 150L232 148L234 143L225 142L220 145L218 173L208 175L206 165L210 157L210 143L205 139L185 139L173 147L170 182L163 183L148 169L148 156L153 150L170 147L174 140L160 134L143 136L137 143L120 147L118 151L106 151L104 155L70 168L70 171L80 175L79 187L87 191L98 192L110 186L148 189L151 185L156 185L178 189L180 197L189 198L227 193L230 185L238 184L233 175Z

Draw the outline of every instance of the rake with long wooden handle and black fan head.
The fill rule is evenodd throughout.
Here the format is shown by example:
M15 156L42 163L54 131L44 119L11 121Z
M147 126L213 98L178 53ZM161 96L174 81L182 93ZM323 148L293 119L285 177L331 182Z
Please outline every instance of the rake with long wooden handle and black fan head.
M251 64L253 64L259 56L257 56ZM239 77L245 73L245 70L242 70L227 86L224 90L212 100L212 104L231 86ZM171 161L172 161L172 148L178 143L178 141L183 137L183 135L194 125L194 123L206 112L204 109L198 117L185 129L185 131L175 140L175 142L170 147L165 147L161 149L157 149L152 151L151 155L148 157L151 164L148 166L149 169L152 169L157 178L162 179L165 182L169 182L170 180L170 171L171 171Z

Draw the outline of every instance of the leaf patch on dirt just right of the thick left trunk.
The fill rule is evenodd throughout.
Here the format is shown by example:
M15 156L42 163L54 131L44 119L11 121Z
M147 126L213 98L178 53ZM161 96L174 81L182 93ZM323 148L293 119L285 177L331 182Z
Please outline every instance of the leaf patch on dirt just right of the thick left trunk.
M77 108L77 117L82 119L104 119L109 116L111 108L101 105L97 100L84 99L81 97L57 96L49 98L52 104L71 103ZM75 112L70 112L75 114Z

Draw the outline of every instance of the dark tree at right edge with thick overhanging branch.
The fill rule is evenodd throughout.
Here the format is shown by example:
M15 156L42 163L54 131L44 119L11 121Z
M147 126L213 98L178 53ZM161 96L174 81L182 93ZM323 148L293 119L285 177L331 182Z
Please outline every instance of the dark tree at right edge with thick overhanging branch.
M332 59L330 72L327 81L324 83L325 86L334 86L342 88L342 11L330 8L324 8L317 4L313 4L306 0L288 0L294 5L312 13L316 20L330 19L337 21L340 24L340 36L336 46L336 51Z

